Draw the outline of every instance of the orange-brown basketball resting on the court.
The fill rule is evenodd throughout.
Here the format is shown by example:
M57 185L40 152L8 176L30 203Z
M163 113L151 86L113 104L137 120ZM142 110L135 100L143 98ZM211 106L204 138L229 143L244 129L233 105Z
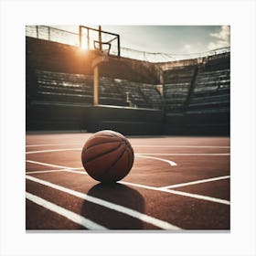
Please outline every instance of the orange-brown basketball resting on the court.
M87 173L102 183L123 179L133 166L133 147L121 133L104 130L84 144L81 162Z

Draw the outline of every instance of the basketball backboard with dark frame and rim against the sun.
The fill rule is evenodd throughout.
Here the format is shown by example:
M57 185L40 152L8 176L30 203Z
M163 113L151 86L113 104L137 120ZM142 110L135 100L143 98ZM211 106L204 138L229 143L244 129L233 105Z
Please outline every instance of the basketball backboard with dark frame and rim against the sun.
M120 36L101 30L101 26L80 26L80 48L97 49L106 55L120 56Z

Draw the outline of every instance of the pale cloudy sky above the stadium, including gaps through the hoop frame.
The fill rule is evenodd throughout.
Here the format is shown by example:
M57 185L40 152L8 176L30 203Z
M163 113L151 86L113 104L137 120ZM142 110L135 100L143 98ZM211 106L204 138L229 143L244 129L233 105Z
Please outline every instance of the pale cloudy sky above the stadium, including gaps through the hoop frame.
M99 26L86 25L98 28ZM49 26L79 33L79 26ZM104 26L101 30L120 35L121 56L150 62L203 57L208 51L227 48L229 26ZM86 29L83 30L86 38ZM93 37L91 32L91 37ZM95 32L94 37L98 39ZM102 36L103 38L103 36ZM103 39L102 39L103 40ZM84 45L87 45L85 41ZM91 42L91 48L93 43ZM116 44L117 45L117 44ZM111 54L117 52L112 43ZM128 49L127 49L128 48ZM130 50L133 49L133 50ZM115 52L115 53L114 53ZM154 54L149 54L154 53ZM159 53L159 54L155 54Z

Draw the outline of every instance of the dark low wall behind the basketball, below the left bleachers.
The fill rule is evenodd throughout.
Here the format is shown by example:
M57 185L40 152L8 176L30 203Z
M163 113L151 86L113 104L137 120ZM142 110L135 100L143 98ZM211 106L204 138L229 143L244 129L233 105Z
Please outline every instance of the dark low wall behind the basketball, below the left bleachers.
M46 114L48 113L48 114ZM95 133L113 130L123 134L162 134L164 112L116 106L45 104L34 102L27 112L27 131L82 130Z

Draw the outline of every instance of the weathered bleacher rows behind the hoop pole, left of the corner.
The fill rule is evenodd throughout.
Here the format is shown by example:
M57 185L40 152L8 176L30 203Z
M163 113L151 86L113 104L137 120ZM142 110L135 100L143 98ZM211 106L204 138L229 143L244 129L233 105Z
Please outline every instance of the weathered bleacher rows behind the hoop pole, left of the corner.
M28 78L31 76L27 76ZM48 102L80 102L92 105L93 76L83 74L69 74L36 69L33 77L33 101ZM32 81L27 80L28 83ZM128 80L118 80L101 77L100 103L102 105L126 106L127 92L133 107L161 108L162 97L153 84L144 84Z

